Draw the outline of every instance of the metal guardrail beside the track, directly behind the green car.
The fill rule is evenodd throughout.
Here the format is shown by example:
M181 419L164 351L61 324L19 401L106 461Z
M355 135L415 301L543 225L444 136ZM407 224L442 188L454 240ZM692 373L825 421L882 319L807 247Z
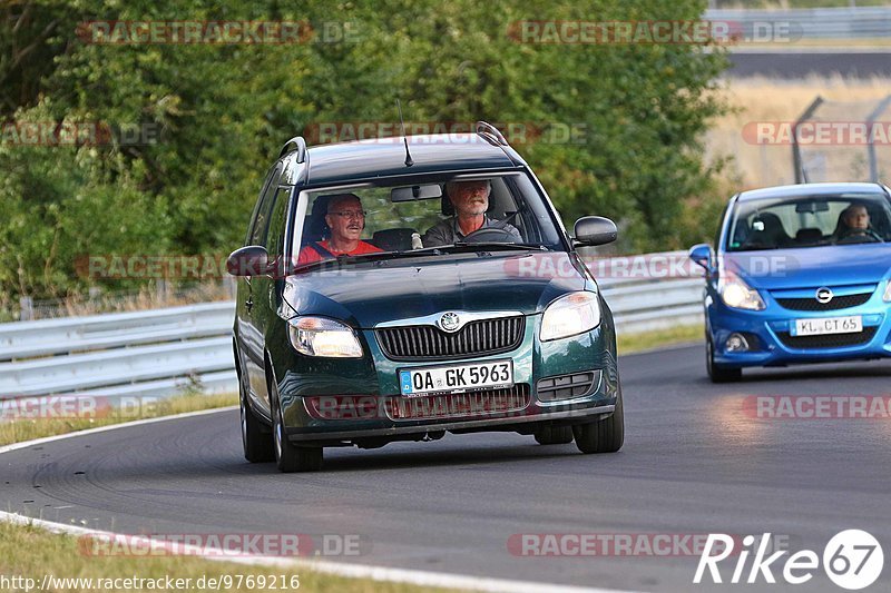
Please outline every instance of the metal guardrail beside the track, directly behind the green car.
M702 322L703 280L685 253L586 261L618 332ZM234 392L233 315L234 303L223 302L0 324L0 401Z

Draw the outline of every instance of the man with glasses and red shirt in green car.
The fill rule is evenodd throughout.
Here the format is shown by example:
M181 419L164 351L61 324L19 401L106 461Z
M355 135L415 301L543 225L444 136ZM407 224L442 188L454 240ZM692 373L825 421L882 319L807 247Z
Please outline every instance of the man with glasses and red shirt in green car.
M311 243L301 249L298 266L342 255L373 254L383 250L359 238L365 228L365 213L362 210L362 201L355 194L341 194L331 198L325 223L331 229L331 237Z

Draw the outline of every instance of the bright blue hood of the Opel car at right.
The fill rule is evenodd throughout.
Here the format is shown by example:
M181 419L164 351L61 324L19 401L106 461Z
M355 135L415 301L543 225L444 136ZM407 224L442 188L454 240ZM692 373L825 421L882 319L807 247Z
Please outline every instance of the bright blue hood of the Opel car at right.
M875 284L889 275L891 245L864 244L724 254L723 269L765 290Z

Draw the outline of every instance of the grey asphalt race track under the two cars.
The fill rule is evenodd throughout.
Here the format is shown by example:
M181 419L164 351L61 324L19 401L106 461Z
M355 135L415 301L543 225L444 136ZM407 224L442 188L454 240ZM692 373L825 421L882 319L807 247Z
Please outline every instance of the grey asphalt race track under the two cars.
M361 555L331 560L645 591L726 584L694 586L691 555L526 557L508 541L772 532L822 555L836 532L865 528L891 556L891 423L743 412L756 394L888 395L891 362L754 370L715 386L702 350L621 359L627 434L613 455L515 434L447 435L329 449L324 472L284 475L242 458L237 413L222 412L3 454L0 504L124 533L360 535ZM771 587L805 589L841 591L822 572L806 586ZM889 589L885 570L870 591Z

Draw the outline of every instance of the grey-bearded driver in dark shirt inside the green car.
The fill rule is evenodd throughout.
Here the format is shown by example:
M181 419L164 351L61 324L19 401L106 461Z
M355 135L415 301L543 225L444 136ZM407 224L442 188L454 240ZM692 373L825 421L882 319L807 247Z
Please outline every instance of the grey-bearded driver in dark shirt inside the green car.
M488 179L449 181L446 194L454 205L454 216L430 227L423 236L424 247L451 245L481 228L498 228L522 241L520 231L508 223L487 216L492 185Z

